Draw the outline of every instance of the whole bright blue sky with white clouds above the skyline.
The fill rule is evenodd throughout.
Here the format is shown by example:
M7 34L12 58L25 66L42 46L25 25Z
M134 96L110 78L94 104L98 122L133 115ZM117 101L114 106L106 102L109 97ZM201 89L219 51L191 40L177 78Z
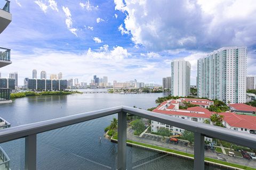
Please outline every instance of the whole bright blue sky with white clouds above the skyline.
M11 1L13 20L0 35L12 49L2 77L18 72L19 85L32 70L90 82L162 83L171 60L192 65L223 46L247 46L248 75L256 66L256 3L248 0Z

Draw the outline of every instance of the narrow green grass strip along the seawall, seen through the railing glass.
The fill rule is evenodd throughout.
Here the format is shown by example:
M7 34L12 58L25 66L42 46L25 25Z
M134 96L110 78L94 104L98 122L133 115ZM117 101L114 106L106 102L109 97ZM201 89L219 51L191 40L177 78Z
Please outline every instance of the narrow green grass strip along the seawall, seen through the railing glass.
M148 147L148 148L153 148L153 149L163 150L163 151L167 151L167 152L172 152L174 154L184 155L184 156L188 156L188 157L194 157L193 154L188 154L188 153L177 151L177 150L172 150L172 149L167 149L167 148L163 148L163 147L148 145L146 143L140 143L140 142L135 142L135 141L131 141L131 140L127 140L127 142L133 143L135 145L145 146L145 147ZM207 160L207 161L213 162L213 163L217 163L217 164L222 164L222 165L237 167L237 168L241 168L241 169L246 169L246 170L256 170L256 168L247 167L247 166L244 166L244 165L233 164L233 163L228 163L228 162L223 162L221 160L208 158L208 157L205 157L204 160Z

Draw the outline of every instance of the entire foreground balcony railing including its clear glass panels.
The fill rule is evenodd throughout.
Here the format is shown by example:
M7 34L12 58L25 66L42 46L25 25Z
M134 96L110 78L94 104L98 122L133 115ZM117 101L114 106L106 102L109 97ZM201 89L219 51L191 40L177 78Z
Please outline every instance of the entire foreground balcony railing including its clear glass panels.
M115 115L117 113L117 116ZM95 119L101 119L105 116L112 115L118 118L117 139L111 138L112 148L107 148L107 139L99 138L99 134L103 132L95 132L93 130L92 122ZM174 140L175 137L170 137L170 140L162 140L161 136L155 134L148 134L147 129L141 135L131 137L133 131L129 128L131 122L130 117L143 117L143 119L161 122L163 124L171 125L190 131L194 134L194 145L186 147L185 140L180 140L181 146ZM89 121L89 122L87 122ZM102 120L104 121L104 120ZM95 122L94 122L95 123ZM102 122L101 122L102 123ZM159 126L161 125L159 123ZM152 122L153 125L153 122ZM97 126L97 125L96 125ZM148 126L149 128L151 126ZM155 127L155 126L154 126ZM146 127L145 127L146 128ZM155 127L156 128L156 127ZM170 127L169 127L170 128ZM179 129L175 128L175 136L178 136ZM92 133L88 133L88 129ZM83 135L83 136L82 136ZM93 146L88 146L87 135L93 135L90 140L93 140ZM59 139L60 138L60 139ZM0 130L0 143L10 157L10 162L7 166L10 169L196 169L203 170L205 166L211 163L213 158L208 158L209 155L215 156L216 162L214 164L222 166L221 162L229 161L236 158L228 157L222 161L216 157L214 147L205 145L205 138L217 138L223 141L234 143L235 145L244 146L256 149L256 135L250 133L238 132L226 128L220 128L205 123L198 123L184 120L182 118L173 117L165 114L149 112L142 109L118 106L113 108L102 109L100 111L92 111L67 117L55 118L43 122L31 123L13 128ZM78 143L76 140L81 140ZM143 140L144 139L144 140ZM152 140L151 140L152 139ZM154 139L154 141L153 141ZM171 140L172 139L172 140ZM19 151L18 147L14 147L14 141L21 144L22 149ZM138 140L140 140L138 142ZM73 141L73 142L70 142ZM60 143L58 143L60 142ZM143 145L141 145L143 143ZM157 143L162 143L162 146L156 146ZM184 151L174 151L173 148L162 150L163 146L174 146ZM132 147L138 148L131 150ZM154 146L154 147L153 147ZM230 146L230 148L233 146ZM85 149L86 148L86 149ZM186 148L186 149L184 149ZM207 148L213 148L213 150ZM221 151L220 147L219 151ZM222 148L228 152L230 148ZM143 150L150 150L148 155L142 153ZM233 148L234 150L234 148ZM223 151L223 152L224 152ZM89 155L90 152L95 154ZM153 154L156 152L157 154ZM184 153L184 155L182 155ZM235 152L236 153L236 152ZM133 157L135 154L140 155ZM239 154L239 153L236 153ZM19 158L13 158L11 155ZM169 157L176 155L177 157ZM222 154L223 155L223 154ZM206 156L206 157L205 157ZM111 157L111 159L110 159ZM169 158L168 158L169 157ZM219 155L219 157L222 157ZM97 159L98 158L98 159ZM206 159L207 158L207 159ZM182 159L179 161L178 159ZM219 159L219 160L218 160ZM237 158L242 160L244 166L255 167L254 160ZM54 163L55 161L55 163ZM18 163L15 163L18 162ZM60 163L61 162L61 163ZM153 163L155 162L154 166ZM233 164L226 162L229 167L223 169L232 169ZM16 164L17 167L12 167ZM62 165L65 164L65 165ZM165 166L161 167L162 164ZM179 164L179 166L178 166ZM194 165L193 165L194 164ZM223 164L225 167L226 165ZM19 166L19 167L18 167ZM183 168L181 166L186 166ZM240 166L243 167L243 166ZM207 168L206 168L207 169ZM222 168L220 168L222 169ZM240 169L240 168L233 168Z

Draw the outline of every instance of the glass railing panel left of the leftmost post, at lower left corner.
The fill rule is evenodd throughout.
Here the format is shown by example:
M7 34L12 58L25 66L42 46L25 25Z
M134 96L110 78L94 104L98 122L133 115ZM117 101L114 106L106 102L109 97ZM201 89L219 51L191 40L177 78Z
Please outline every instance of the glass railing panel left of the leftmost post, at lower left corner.
M25 169L25 139L0 144L0 169Z

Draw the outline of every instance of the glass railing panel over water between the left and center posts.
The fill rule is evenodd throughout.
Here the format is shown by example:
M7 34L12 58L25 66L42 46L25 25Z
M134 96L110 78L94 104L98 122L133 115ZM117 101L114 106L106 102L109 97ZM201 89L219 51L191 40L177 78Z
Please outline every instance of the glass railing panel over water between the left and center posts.
M104 136L114 117L38 134L37 169L116 169L117 143Z

